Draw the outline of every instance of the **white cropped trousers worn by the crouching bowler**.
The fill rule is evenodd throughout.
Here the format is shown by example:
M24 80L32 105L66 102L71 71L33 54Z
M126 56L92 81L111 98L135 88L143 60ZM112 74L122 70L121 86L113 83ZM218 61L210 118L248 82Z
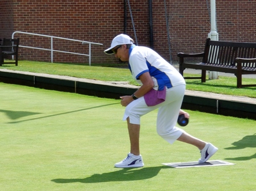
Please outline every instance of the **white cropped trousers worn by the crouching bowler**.
M177 124L185 89L186 85L183 84L166 89L166 100L152 107L147 106L144 96L142 96L125 107L123 120L129 117L130 123L140 125L141 116L158 109L157 134L172 144L184 132L184 130L175 125Z

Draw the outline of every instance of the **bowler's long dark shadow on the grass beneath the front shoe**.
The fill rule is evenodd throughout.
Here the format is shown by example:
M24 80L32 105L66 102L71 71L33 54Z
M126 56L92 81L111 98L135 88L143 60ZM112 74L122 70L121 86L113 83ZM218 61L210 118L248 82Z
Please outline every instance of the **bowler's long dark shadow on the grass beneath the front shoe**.
M88 178L72 178L72 179L54 179L55 183L102 183L109 181L134 181L146 180L157 176L161 169L170 169L168 166L144 167L134 169L122 169L115 172L106 172L103 174L93 174Z

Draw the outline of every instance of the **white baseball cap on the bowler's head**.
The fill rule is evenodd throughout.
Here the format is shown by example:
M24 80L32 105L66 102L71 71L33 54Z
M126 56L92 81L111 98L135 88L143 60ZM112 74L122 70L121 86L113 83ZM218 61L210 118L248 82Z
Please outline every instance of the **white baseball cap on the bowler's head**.
M115 48L117 45L131 45L133 44L133 40L130 36L126 34L119 34L115 38L113 38L111 47L104 50L106 54L114 54L112 51L113 48Z

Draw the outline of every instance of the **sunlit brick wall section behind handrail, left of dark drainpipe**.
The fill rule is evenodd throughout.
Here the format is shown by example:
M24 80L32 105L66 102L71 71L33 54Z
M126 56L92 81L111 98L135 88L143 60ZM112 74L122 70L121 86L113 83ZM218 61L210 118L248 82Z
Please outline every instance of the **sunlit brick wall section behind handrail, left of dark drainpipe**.
M29 0L17 1L15 6L17 15L14 19L15 31L48 34L97 43L106 43L106 39L112 38L113 33L122 32L120 17L122 17L123 5L118 1L113 4L103 0ZM47 38L23 34L19 34L19 36L22 39L21 45L50 48L50 40ZM88 54L88 45L77 42L54 40L53 47L56 50ZM103 46L92 45L92 62L103 60L102 58L105 56L103 50ZM20 49L20 59L51 61L50 55L48 51ZM54 52L54 62L88 63L88 57Z

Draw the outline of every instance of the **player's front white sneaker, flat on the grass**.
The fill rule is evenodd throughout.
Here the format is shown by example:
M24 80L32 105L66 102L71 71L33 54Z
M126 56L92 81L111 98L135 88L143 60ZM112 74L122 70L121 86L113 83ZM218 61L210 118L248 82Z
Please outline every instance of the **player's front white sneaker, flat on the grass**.
M115 164L115 167L118 168L134 168L134 167L143 167L144 163L141 155L133 155L132 153L128 153L127 157Z

